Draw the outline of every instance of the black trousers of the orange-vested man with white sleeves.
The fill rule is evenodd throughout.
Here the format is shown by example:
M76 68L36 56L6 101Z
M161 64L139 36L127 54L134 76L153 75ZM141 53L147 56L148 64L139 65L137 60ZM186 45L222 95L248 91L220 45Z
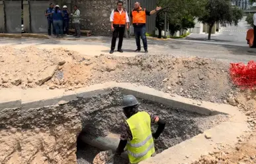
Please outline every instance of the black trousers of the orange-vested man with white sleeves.
M114 32L112 34L112 41L111 41L111 49L114 50L116 47L116 38L119 34L119 41L117 49L122 49L122 41L124 40L124 31L125 27L115 27Z

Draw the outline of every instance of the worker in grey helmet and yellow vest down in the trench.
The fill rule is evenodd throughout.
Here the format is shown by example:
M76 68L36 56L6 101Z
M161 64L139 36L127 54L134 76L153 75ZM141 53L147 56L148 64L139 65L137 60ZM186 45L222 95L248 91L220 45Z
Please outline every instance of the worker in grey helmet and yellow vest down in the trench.
M126 121L122 125L120 142L116 154L120 155L126 147L130 163L139 163L155 155L153 138L157 139L165 128L165 121L146 111L138 111L138 101L132 95L124 96L122 107ZM158 124L155 133L151 123Z

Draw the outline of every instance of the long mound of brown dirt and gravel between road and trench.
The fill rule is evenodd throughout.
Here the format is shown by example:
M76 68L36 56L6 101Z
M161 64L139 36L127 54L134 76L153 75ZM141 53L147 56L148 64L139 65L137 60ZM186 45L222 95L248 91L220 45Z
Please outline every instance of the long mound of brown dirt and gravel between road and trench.
M82 56L63 48L0 50L0 86L73 90L102 82L132 82L193 99L223 103L232 84L228 63L168 55ZM47 85L47 86L46 86Z

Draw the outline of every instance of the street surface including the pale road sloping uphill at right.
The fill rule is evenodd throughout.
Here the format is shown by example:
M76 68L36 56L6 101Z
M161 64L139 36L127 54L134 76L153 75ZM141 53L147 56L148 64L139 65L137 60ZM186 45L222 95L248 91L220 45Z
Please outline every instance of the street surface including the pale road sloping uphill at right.
M186 39L179 40L152 40L148 38L148 55L174 55L181 57L206 57L221 59L229 62L256 61L256 49L251 49L245 40L247 30L251 28L245 21L245 17L238 26L222 27L219 34L213 34L212 40L206 40L207 34L191 34ZM142 41L141 41L142 42ZM73 51L79 51L84 55L108 55L110 51L110 37L90 36L75 39L67 36L64 40L34 39L34 38L0 38L0 45L13 45L26 47L35 45L41 48L64 47ZM116 41L116 45L118 41ZM113 55L134 56L144 53L134 53L136 43L134 38L126 38L123 43L124 53L115 52ZM142 48L143 49L143 48Z

